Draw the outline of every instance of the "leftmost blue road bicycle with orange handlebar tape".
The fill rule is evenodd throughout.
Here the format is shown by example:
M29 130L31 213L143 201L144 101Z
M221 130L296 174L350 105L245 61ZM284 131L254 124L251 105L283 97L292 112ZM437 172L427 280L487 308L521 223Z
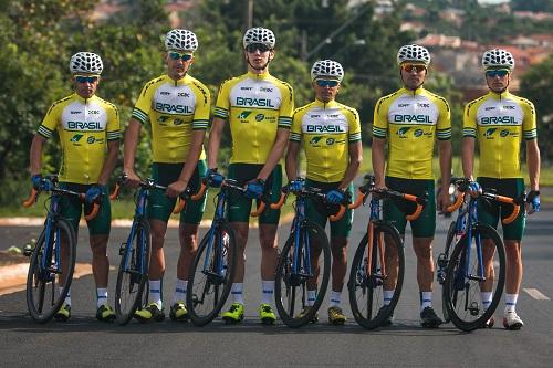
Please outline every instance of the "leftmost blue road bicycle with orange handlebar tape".
M58 176L51 175L41 180L44 185L49 180L52 188L50 204L46 207L44 228L36 241L34 249L25 250L30 256L27 276L27 307L31 317L38 323L49 322L63 305L71 288L73 272L75 270L76 236L71 223L60 213L60 201L63 196L74 196L84 201L85 193L58 187ZM31 191L23 207L34 204L42 190ZM93 203L87 221L94 219L100 209L98 203ZM63 285L63 288L56 291Z

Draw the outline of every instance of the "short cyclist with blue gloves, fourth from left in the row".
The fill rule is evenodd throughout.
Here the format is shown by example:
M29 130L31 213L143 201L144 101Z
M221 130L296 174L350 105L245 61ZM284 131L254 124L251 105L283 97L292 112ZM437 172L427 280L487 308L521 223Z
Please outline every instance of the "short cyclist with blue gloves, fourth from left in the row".
M286 175L291 189L300 191L303 185L319 188L326 193L326 202L334 204L328 209L322 201L307 201L305 214L323 229L328 214L336 212L337 204L343 202L346 193L353 196L352 181L363 159L357 111L335 101L343 77L344 70L335 61L322 60L313 64L311 80L315 101L295 111L286 154ZM305 183L296 180L302 141L307 161ZM340 221L331 222L332 294L328 322L333 325L346 322L341 298L352 223L353 210L349 209ZM314 264L317 264L317 257L314 255ZM316 290L309 290L304 314L314 304Z

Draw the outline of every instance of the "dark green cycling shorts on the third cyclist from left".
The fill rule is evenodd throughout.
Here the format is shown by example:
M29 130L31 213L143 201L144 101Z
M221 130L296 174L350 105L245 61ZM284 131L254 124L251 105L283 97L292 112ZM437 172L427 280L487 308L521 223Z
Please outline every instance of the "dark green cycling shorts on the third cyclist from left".
M229 179L233 179L240 187L258 177L263 168L259 164L230 164ZM271 203L278 202L282 189L282 168L276 165L273 172L265 180L265 196ZM242 193L231 190L228 200L228 220L229 222L249 222L252 200L246 198ZM273 210L267 206L265 210L259 215L259 223L278 224L280 219L280 209Z

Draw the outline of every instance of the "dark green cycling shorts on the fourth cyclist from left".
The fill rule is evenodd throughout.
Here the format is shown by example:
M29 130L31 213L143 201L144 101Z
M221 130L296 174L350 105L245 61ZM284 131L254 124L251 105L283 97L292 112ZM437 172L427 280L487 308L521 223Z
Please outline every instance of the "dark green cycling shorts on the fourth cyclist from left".
M321 182L306 179L305 187L307 188L319 188L322 192L326 193L331 190L337 189L340 182ZM353 183L347 187L347 191L352 196L353 200ZM326 220L328 215L335 214L340 209L340 204L327 204L322 198L309 197L305 206L305 214L307 219L321 225L321 228L326 227ZM344 217L338 221L331 221L331 238L347 238L352 231L353 224L353 210L346 209Z

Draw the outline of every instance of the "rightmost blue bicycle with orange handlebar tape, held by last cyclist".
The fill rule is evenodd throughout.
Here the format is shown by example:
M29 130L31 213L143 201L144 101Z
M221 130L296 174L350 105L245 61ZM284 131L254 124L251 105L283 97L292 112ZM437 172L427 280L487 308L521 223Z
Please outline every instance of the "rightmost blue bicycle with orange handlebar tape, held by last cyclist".
M470 181L453 179L452 182L459 189L460 196L447 211L458 209L459 214L449 225L445 251L438 256L437 277L442 284L445 319L451 320L461 330L470 332L487 325L489 320L489 327L493 325L490 318L500 302L505 282L503 241L495 229L478 220L477 202L488 200L513 204L512 213L502 219L503 224L508 224L517 219L522 199L482 191L467 201ZM492 293L491 303L487 308L481 301L483 290Z

